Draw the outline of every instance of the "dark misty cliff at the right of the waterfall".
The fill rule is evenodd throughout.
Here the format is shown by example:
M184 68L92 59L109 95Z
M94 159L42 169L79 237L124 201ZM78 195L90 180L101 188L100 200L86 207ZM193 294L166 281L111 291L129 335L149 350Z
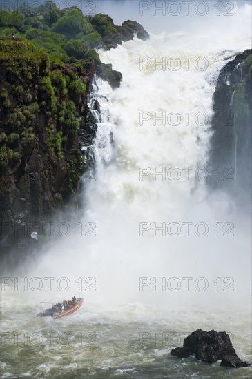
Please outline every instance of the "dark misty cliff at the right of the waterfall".
M242 200L248 208L246 200L251 193L252 50L236 55L220 71L213 95L213 110L210 164L213 170L220 167L226 180L216 181L213 175L211 185L231 194L235 192L237 200ZM226 167L231 167L231 171ZM229 181L234 177L235 181ZM242 185L237 188L239 183Z

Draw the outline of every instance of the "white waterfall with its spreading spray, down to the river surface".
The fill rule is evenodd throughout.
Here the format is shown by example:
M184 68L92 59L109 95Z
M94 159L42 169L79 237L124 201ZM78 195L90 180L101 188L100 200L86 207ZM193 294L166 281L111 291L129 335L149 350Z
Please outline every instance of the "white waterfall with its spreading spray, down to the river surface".
M93 147L96 168L93 181L86 185L86 209L81 221L84 233L78 236L75 229L75 233L60 237L32 270L33 276L67 276L72 283L79 276L92 276L97 281L97 291L86 292L86 301L106 305L137 302L171 309L172 301L173 308L188 303L226 307L234 303L234 298L242 302L248 295L242 288L249 283L249 243L246 245L246 237L238 224L235 236L223 236L229 230L229 225L224 228L224 223L235 224L232 204L222 194L215 198L208 196L205 182L195 180L197 167L209 170L212 133L210 122L204 123L202 118L195 122L195 116L204 112L211 121L212 96L220 66L225 63L225 57L235 52L221 48L203 50L201 46L197 50L191 48L188 41L182 33L163 33L152 35L149 41L134 39L117 49L99 51L101 61L112 63L115 70L122 72L123 79L120 87L112 90L106 81L95 78L90 94L89 105L99 103L100 110L93 111L97 119ZM193 45L197 43L194 41ZM180 70L162 70L161 65L157 65L157 70L153 70L152 65L139 70L140 57L156 57L160 62L164 56L177 57L182 63ZM193 57L189 69L183 57ZM195 68L200 57L207 59L207 70ZM201 65L199 63L200 68ZM181 121L175 125L176 119L171 118L166 125L157 121L154 126L151 117L140 125L140 112L156 112L157 117L162 116L162 112L166 117L177 112ZM185 112L191 112L188 125ZM140 167L151 170L142 181ZM172 181L170 178L174 178L176 172L171 172L164 180L157 175L153 181L153 167L157 172L165 167L166 174L170 167L177 167L181 177ZM182 167L193 167L189 180ZM209 228L206 236L195 233L199 222ZM87 223L95 226L86 227ZM142 236L139 235L140 223L151 225ZM157 227L164 225L166 235L157 230L153 236L153 223ZM177 236L171 236L176 234L176 226L168 234L169 223L179 225ZM182 223L193 223L189 236ZM222 228L220 236L214 227L217 223ZM93 236L84 236L88 230ZM200 229L200 234L202 232ZM242 258L237 251L242 251ZM226 262L232 264L226 265ZM140 277L156 277L157 282L175 277L180 280L181 288L162 291L162 287L157 287L157 291L153 291L151 283L139 291ZM193 280L204 277L209 287L206 292L196 291L193 284L193 288L186 291L182 277ZM220 280L233 278L235 291L218 293L216 302L217 284L213 280L217 277ZM58 291L57 296L61 295ZM50 296L53 298L56 294Z

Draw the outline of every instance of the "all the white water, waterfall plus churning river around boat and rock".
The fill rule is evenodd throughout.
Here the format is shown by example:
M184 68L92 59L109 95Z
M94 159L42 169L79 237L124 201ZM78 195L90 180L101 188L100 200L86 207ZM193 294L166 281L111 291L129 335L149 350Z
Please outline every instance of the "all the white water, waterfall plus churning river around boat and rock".
M3 356L8 357L2 378L251 377L249 368L169 356L201 327L227 331L238 356L251 361L247 223L226 195L209 194L207 181L195 178L197 167L211 174L217 74L224 59L248 44L238 41L223 50L197 43L192 47L183 34L159 34L99 51L101 61L112 63L123 80L112 90L94 79L95 170L84 177L84 216L36 265L17 275L20 281L28 277L27 291L12 286L2 292ZM166 57L166 69L153 70L146 59L141 69L141 57L157 62ZM168 67L171 57L177 57L179 70L177 61ZM189 67L183 57L192 57ZM206 62L208 68L200 70ZM160 120L154 125L153 112L157 117L165 112L165 125ZM186 112L191 112L188 120ZM164 172L162 167L165 176L154 181L153 170ZM177 169L168 172L171 167ZM182 167L192 167L189 176ZM163 227L156 235L155 225ZM40 291L29 287L35 277L42 280ZM55 278L51 291L48 277ZM56 285L62 277L69 289L67 280ZM40 300L64 300L79 289L84 306L76 314L35 318Z

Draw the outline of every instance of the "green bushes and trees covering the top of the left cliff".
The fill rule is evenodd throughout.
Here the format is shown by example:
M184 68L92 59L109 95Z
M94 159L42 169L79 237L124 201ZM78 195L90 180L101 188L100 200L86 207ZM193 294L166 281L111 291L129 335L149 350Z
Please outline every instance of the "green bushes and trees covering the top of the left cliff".
M87 17L77 6L60 10L52 1L37 8L35 4L32 12L1 11L0 37L11 38L12 32L47 52L51 59L64 63L72 63L72 58L85 59L88 49L116 47L132 39L135 32L146 33L133 21L116 26L106 14Z

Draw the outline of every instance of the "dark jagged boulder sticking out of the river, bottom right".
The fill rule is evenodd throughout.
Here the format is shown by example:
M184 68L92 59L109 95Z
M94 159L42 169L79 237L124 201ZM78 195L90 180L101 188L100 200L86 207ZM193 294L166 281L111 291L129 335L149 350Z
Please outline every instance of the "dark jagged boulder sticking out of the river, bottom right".
M171 351L172 356L195 358L205 363L214 363L221 360L221 366L248 367L235 353L229 335L225 331L204 331L197 329L184 339L183 347L176 347Z

